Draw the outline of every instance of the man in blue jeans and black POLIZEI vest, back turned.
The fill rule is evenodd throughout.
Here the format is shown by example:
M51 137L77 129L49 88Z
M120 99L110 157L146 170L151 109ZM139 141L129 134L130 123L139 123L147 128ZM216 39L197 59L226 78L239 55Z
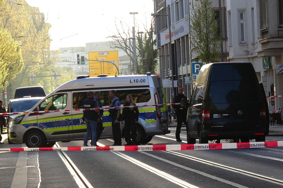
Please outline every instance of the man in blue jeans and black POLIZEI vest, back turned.
M94 101L94 93L93 91L87 92L87 99L82 101L82 108L83 109L90 109L90 108L98 108L96 101ZM97 120L99 111L96 110L84 110L84 117L85 117L85 124L87 125L87 132L85 133L84 137L84 145L88 146L87 141L90 133L92 133L91 140L95 141L91 144L91 146L96 146L96 127L97 127Z

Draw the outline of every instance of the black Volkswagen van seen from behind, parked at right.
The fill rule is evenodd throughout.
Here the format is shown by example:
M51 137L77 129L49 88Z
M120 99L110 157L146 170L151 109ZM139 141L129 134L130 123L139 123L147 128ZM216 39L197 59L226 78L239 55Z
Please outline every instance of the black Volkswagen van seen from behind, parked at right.
M189 101L188 144L195 144L196 138L200 144L219 139L265 141L264 100L251 63L202 66Z

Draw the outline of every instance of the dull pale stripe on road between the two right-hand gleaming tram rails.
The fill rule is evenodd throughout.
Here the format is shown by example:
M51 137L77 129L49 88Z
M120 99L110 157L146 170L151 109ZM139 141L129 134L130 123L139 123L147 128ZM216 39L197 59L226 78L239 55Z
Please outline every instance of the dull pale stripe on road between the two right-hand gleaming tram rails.
M183 168L183 169L185 169L185 170L187 170L187 171L191 171L191 172L194 172L194 173L198 173L198 174L200 174L200 175L202 175L202 176L206 176L206 177L208 177L208 178L215 179L215 180L217 180L217 181L221 181L221 182L223 182L223 183L232 185L232 186L234 186L234 187L247 188L247 187L245 187L245 186L243 186L243 185L234 183L234 182L232 182L232 181L228 181L228 180L225 180L225 179L222 179L222 178L218 178L218 177L212 176L212 175L210 175L210 174L208 174L208 173L201 172L201 171L195 170L195 169L193 169L193 168L188 168L188 167L183 166L183 165L179 165L179 164L176 163L176 162L172 162L172 161L163 159L163 158L161 158L161 157L157 157L157 156L155 156L155 155L153 155L153 154L149 154L149 153L146 153L146 152L143 152L143 151L139 151L139 152L142 153L142 154L146 154L146 155L148 155L148 156L150 156L150 157L153 157L153 158L155 158L155 159L161 160L161 161L163 161L163 162L167 162L167 163L169 163L169 164L171 164L171 165L174 165L174 166L177 166L177 167L179 167L179 168Z

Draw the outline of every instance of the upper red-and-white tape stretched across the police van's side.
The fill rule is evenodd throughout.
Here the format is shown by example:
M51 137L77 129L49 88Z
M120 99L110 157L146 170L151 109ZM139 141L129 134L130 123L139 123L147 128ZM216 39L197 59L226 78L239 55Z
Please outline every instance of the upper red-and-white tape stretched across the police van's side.
M104 108L88 108L88 109L70 109L70 110L47 110L47 111L25 111L25 112L7 112L0 113L0 116L11 115L11 114L32 114L32 113L49 113L49 112L62 112L62 111L83 111L83 110L100 110L100 109L121 109L121 108L138 108L138 107L147 107L147 106L167 106L167 105L178 105L181 103L168 103L168 104L149 104L149 105L140 105L140 106L118 106L118 107L104 107Z

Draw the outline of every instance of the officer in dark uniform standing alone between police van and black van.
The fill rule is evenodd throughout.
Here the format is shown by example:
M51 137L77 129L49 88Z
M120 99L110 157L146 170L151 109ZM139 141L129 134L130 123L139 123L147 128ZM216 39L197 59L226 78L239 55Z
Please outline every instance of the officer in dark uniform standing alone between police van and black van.
M176 95L173 99L173 103L181 103L181 100L183 98L187 98L183 92L184 89L182 86L178 87L178 95ZM180 138L180 133L181 133L181 127L182 127L182 122L187 125L187 106L184 104L177 104L177 105L172 105L173 108L175 109L176 112L176 118L177 118L177 128L176 128L176 141L177 142L182 142Z

